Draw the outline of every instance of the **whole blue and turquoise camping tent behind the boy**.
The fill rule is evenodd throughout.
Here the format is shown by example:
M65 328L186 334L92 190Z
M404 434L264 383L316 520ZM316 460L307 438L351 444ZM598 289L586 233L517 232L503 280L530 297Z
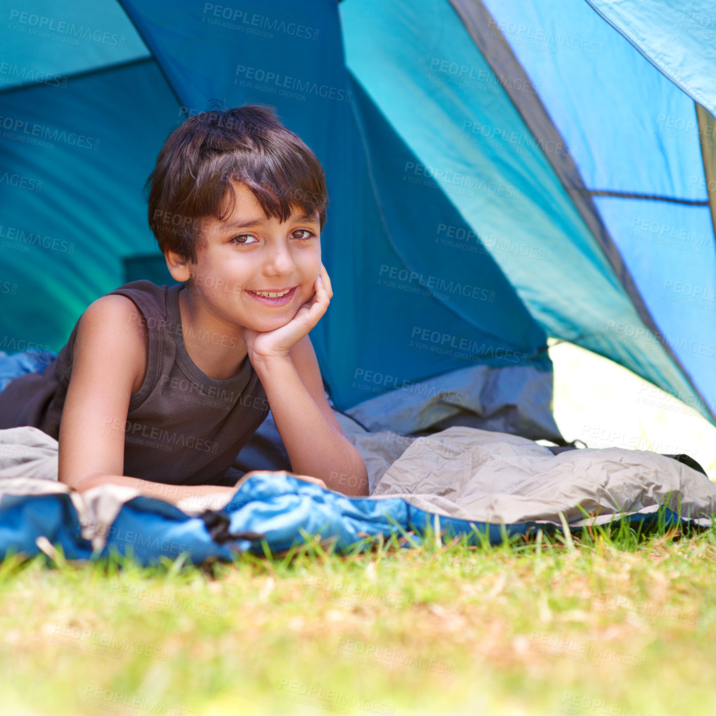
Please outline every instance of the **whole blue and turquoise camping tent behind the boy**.
M407 432L512 405L504 429L558 435L550 335L715 420L705 0L16 8L0 26L0 350L57 351L98 296L170 281L142 198L163 141L210 100L266 102L326 169L335 295L311 338L336 407ZM409 419L385 417L386 395Z

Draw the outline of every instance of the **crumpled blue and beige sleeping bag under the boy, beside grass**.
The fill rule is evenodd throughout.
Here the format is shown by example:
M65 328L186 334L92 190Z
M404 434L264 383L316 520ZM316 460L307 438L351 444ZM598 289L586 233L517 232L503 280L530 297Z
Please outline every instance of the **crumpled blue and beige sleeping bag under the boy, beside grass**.
M615 516L648 522L662 504L667 521L708 526L716 512L714 483L655 453L547 455L531 440L470 427L409 437L361 433L356 426L347 436L364 457L370 445L384 449L401 437L404 445L410 440L387 470L379 468L369 498L347 498L286 473L260 473L242 478L231 500L216 494L175 506L119 485L80 495L56 476L16 476L33 465L47 470L47 453L57 442L32 427L0 430L0 558L16 551L32 556L39 537L62 546L67 558L115 550L145 564L181 553L202 563L229 560L236 551L261 554L264 544L282 551L316 534L337 551L409 531L420 543L428 526L444 538L465 535L478 543L487 536L498 543L505 534L560 528L562 519L570 528ZM374 465L390 462L384 455L366 461L373 482ZM585 518L580 508L594 516Z

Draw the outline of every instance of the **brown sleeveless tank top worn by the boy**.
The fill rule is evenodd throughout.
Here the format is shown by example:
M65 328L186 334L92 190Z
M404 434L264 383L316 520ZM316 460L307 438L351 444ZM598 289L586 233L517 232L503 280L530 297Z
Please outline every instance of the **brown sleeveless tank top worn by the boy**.
M223 380L196 367L185 348L179 312L184 285L132 281L108 294L127 296L141 311L149 355L126 422L103 429L117 437L125 432L125 475L176 485L233 484L236 478L224 475L269 414L269 401L248 356L238 375ZM0 392L0 428L33 425L57 440L76 334L77 324L42 374L21 375Z

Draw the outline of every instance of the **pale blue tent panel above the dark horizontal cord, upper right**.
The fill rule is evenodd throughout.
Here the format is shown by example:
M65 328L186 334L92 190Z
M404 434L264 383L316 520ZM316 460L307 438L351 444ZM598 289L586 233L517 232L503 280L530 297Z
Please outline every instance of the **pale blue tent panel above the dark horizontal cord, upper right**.
M589 5L485 6L491 32L526 69L588 188L707 198L694 103Z

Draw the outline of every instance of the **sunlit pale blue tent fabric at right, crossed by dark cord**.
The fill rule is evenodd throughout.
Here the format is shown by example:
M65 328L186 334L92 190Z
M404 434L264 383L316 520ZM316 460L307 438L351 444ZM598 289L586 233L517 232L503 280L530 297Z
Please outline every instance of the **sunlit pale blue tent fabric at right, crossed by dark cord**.
M584 3L558 14L547 0L485 7L490 32L540 89L657 326L654 334L612 316L607 334L621 331L612 337L639 352L674 354L691 385L670 392L709 412L716 256L694 102Z

